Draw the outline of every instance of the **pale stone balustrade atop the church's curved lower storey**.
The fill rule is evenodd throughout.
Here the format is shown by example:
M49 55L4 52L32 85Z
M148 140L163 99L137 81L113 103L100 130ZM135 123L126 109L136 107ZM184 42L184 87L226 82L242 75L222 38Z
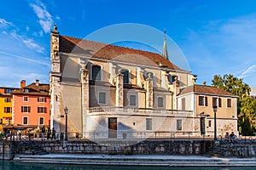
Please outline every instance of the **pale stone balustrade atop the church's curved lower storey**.
M123 113L157 113L166 115L187 115L191 116L193 111L180 111L180 110L163 110L163 109L149 109L149 108L126 108L126 107L113 107L113 106L101 106L90 107L90 113L94 112L123 112Z

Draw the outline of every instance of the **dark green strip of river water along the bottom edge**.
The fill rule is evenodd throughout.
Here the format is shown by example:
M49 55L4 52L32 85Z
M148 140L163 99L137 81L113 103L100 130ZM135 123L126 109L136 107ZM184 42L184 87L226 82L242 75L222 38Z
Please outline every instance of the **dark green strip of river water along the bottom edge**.
M20 163L15 161L2 161L2 170L251 170L256 167L131 167L131 166L89 166L89 165L67 165L67 164L42 164L42 163Z

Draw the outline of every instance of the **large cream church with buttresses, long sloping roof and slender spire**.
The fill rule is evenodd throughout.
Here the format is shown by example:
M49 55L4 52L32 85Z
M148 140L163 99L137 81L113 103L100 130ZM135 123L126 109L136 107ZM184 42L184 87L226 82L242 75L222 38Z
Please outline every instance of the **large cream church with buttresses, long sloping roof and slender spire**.
M65 130L67 106L68 133L87 139L201 136L195 96L179 106L196 77L168 60L166 38L160 55L61 36L55 27L50 45L51 126L57 132ZM236 117L230 121L235 125Z

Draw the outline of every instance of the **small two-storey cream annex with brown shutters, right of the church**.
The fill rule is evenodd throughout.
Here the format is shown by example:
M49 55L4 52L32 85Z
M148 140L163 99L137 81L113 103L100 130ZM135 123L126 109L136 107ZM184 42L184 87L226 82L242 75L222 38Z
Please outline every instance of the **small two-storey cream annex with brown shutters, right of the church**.
M206 85L193 85L183 88L178 94L177 105L179 110L194 112L193 128L206 136L214 133L213 105L218 106L217 134L224 137L229 132L237 133L236 101L237 96L222 89Z

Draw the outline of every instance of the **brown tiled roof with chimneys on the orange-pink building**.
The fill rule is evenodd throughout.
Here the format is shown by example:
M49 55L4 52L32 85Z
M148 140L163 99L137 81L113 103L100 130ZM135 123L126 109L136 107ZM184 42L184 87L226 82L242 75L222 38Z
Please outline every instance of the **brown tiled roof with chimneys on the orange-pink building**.
M24 89L28 89L29 92L24 92ZM25 88L16 89L12 94L49 96L49 84L39 83L37 86L36 82L33 82L32 84L26 86Z

